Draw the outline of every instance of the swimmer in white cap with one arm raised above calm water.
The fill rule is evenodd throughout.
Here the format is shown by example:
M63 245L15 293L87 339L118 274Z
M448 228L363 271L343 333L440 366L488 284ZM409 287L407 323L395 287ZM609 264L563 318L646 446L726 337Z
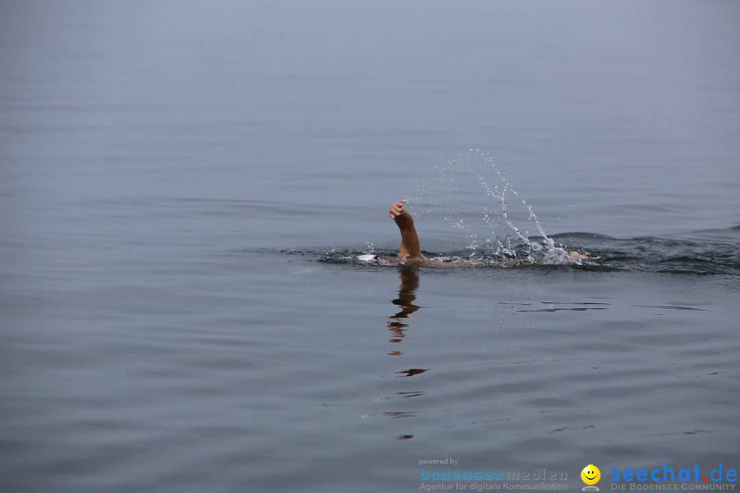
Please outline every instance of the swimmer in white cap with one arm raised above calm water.
M396 222L401 232L401 244L398 246L398 256L395 261L381 258L377 255L360 255L358 259L366 261L377 261L380 265L408 265L411 267L473 267L471 262L459 260L454 262L440 262L439 260L430 260L421 253L419 235L414 227L414 217L411 212L403 208L406 200L398 200L391 204L388 210L388 216ZM582 260L599 257L591 257L580 251L570 251L568 258L571 260Z

